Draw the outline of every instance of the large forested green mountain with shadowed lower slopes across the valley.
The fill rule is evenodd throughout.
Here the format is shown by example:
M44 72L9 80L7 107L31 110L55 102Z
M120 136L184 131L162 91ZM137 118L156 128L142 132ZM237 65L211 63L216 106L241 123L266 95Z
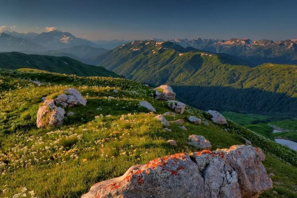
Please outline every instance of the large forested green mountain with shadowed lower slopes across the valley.
M141 83L172 85L188 104L203 110L297 117L296 65L242 66L246 61L224 54L154 41L121 45L96 61Z

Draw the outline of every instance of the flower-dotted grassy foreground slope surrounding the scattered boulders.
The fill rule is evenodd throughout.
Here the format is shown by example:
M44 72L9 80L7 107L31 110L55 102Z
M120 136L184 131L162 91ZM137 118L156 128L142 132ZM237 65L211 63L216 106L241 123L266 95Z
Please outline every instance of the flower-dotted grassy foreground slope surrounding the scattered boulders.
M46 84L35 85L29 81L32 78ZM86 107L67 107L66 111L75 115L66 118L61 127L37 129L41 97L69 87L77 88L87 99ZM121 78L0 68L0 197L18 193L30 197L29 191L37 197L80 197L94 183L122 175L134 164L195 151L185 142L191 134L205 136L213 150L244 144L243 137L247 138L265 152L264 166L274 174L274 188L260 197L296 197L296 152L230 120L224 126L214 124L208 114L190 106L182 115L165 116L168 121L183 118L188 130L173 123L172 132L165 131L154 116L170 110L152 93L152 88ZM157 112L139 107L142 100ZM189 123L190 115L210 125ZM170 139L176 140L178 147L168 145Z

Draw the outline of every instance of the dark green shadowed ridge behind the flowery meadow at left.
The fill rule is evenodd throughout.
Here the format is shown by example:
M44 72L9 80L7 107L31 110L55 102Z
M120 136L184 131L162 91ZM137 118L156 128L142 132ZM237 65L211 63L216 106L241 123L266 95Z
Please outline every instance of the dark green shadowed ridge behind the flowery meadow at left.
M78 76L120 77L103 67L83 64L69 57L28 55L18 52L0 53L0 67L7 69L32 68Z

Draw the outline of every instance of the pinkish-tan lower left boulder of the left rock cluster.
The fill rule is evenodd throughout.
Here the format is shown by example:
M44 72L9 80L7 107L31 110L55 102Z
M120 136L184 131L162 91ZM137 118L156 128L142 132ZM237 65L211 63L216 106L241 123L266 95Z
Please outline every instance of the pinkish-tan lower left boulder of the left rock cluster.
M37 127L53 125L59 126L63 123L65 110L57 107L53 99L45 100L37 112Z

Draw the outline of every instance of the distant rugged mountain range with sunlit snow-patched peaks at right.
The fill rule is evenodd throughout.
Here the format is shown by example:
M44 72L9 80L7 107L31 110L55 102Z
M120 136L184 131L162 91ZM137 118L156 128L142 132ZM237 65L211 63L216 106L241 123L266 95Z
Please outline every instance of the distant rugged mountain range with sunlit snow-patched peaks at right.
M162 39L152 39L163 41ZM297 39L284 41L251 39L168 39L167 41L181 45L182 47L194 47L211 53L226 53L238 56L254 63L255 65L265 62L279 64L297 64Z

